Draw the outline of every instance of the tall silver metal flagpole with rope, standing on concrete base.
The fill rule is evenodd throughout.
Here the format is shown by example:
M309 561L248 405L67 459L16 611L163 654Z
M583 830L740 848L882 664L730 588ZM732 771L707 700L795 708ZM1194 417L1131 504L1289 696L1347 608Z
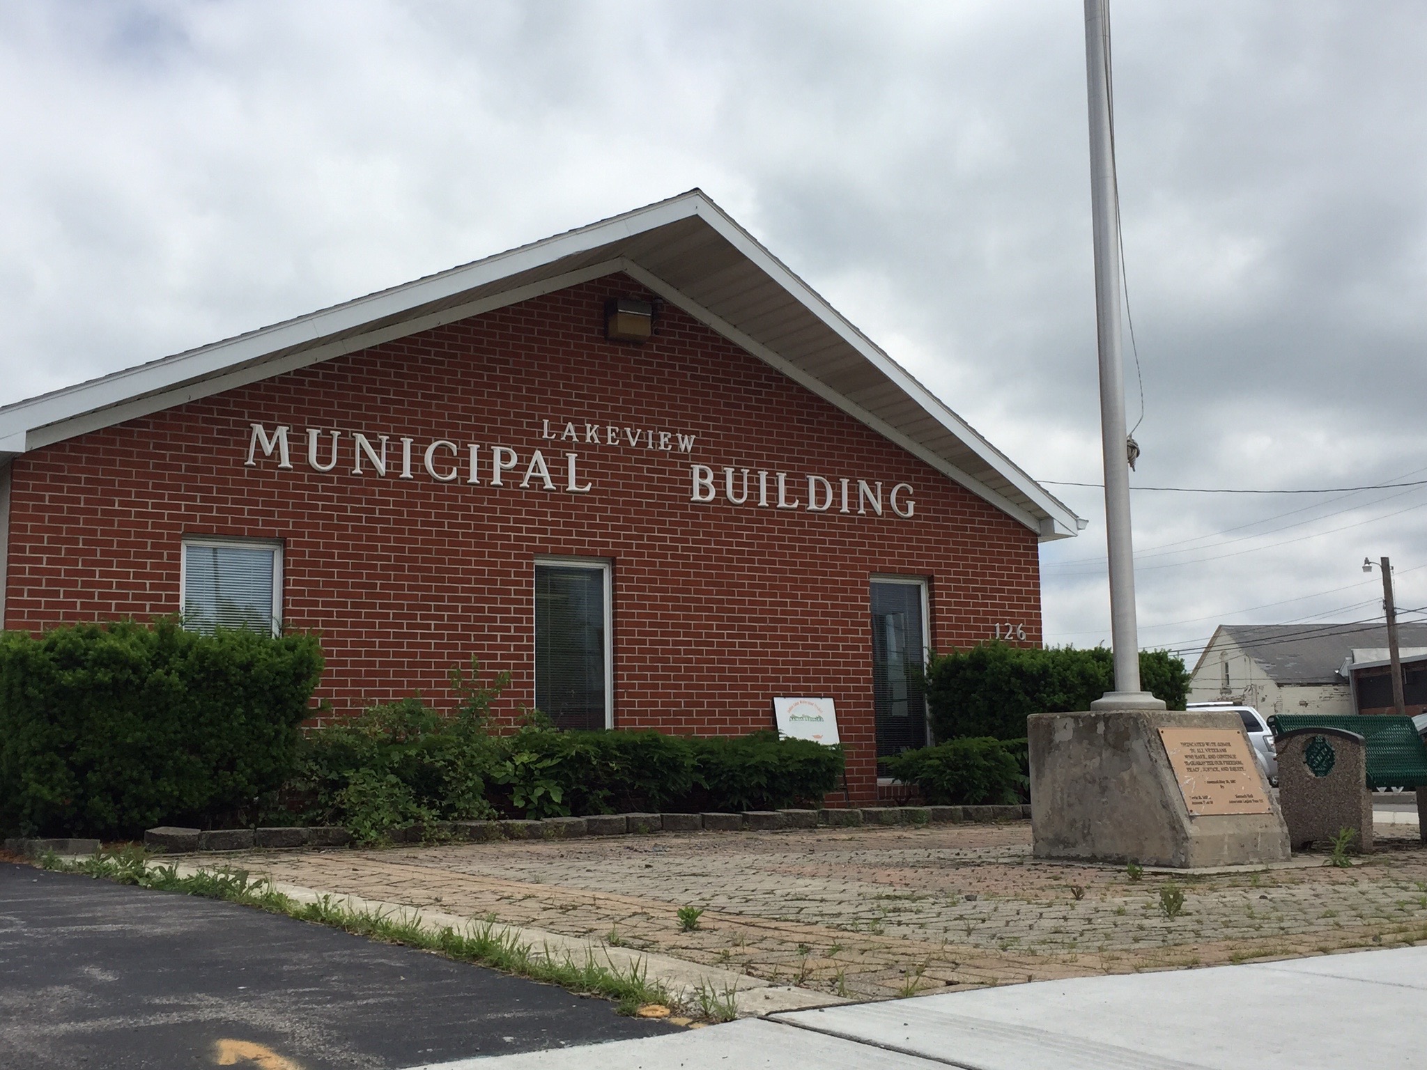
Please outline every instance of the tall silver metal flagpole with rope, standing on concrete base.
M1095 224L1095 317L1100 355L1100 445L1104 454L1104 531L1110 561L1110 646L1114 691L1092 709L1164 709L1140 691L1134 619L1134 546L1130 539L1130 462L1124 431L1124 358L1120 348L1120 214L1110 111L1109 0L1085 0L1085 63L1090 104L1090 210Z

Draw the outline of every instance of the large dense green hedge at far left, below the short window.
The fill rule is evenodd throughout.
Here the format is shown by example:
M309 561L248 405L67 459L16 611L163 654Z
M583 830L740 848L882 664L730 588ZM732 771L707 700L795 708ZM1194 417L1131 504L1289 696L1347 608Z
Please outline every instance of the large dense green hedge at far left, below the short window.
M0 825L131 836L274 792L323 671L310 635L197 635L176 621L0 635Z

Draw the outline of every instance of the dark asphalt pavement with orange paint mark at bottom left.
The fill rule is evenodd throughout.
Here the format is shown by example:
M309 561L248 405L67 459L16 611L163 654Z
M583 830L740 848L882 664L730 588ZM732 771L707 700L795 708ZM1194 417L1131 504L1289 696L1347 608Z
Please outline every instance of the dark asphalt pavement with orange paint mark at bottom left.
M672 1029L251 907L0 863L4 1067L387 1070Z

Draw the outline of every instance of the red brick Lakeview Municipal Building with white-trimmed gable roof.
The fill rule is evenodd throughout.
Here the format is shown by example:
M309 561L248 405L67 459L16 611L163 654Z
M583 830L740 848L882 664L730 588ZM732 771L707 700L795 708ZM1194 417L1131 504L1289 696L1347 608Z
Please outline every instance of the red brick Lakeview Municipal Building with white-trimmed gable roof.
M338 713L472 655L569 728L828 696L860 798L1079 526L698 191L10 405L0 457L6 628L311 629Z

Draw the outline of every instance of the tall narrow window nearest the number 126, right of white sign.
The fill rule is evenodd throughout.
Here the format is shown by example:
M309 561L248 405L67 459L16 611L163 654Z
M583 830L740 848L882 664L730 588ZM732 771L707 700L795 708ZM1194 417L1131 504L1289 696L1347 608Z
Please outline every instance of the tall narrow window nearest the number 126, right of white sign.
M926 746L926 581L872 581L872 706L878 758Z

